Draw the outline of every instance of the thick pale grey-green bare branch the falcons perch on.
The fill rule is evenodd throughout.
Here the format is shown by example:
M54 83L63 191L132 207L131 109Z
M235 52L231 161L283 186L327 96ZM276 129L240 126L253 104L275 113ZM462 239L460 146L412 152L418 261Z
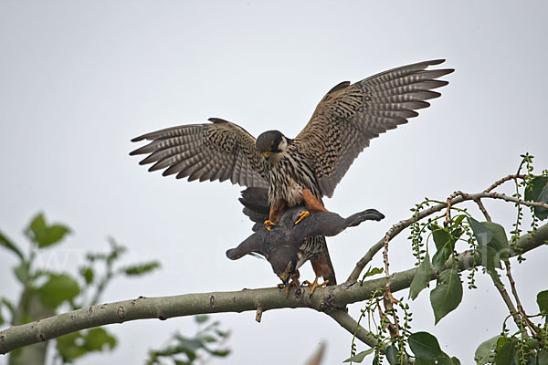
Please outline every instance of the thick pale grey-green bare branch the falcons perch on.
M511 255L516 251L525 253L548 242L548 224L540 227L534 235L523 235L513 246ZM469 252L458 255L462 270L472 263ZM416 268L394 274L390 280L392 292L409 287ZM313 308L317 311L332 313L341 310L347 304L372 297L373 293L385 287L385 277L369 280L363 285L342 284L318 289L310 297L310 289L297 287L285 296L285 289L263 288L243 289L234 292L216 292L185 294L174 297L138 297L116 303L91 306L45 318L25 325L0 331L0 353L26 345L55 339L81 329L122 323L144 318L167 319L204 313L243 312L247 310L263 311L276 308ZM341 323L341 322L339 322ZM344 327L344 326L343 326Z

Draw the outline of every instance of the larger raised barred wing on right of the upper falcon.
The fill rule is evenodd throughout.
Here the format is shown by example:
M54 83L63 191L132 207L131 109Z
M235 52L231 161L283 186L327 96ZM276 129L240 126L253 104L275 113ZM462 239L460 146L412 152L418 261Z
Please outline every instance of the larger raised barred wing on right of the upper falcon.
M352 85L345 81L321 99L293 143L311 163L323 195L332 196L335 186L371 139L416 117L415 110L430 105L425 100L441 96L431 89L448 82L436 78L454 69L426 68L444 61L394 68Z

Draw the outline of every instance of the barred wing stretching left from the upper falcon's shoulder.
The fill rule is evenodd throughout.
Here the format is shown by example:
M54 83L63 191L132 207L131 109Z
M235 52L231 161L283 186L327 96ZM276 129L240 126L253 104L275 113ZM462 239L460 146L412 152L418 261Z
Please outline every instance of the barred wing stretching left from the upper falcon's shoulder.
M192 124L153 131L132 141L152 141L132 151L148 154L139 162L153 163L150 172L162 170L163 176L176 173L177 179L224 182L230 179L248 187L269 187L265 159L255 147L248 131L227 120L210 118L212 123Z

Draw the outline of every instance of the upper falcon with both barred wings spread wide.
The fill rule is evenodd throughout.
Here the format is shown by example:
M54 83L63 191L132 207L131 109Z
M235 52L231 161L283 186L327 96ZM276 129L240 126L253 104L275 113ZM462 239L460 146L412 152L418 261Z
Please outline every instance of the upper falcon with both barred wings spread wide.
M353 160L369 142L393 130L416 110L427 108L434 91L448 84L439 80L452 68L428 69L445 60L429 60L332 88L314 110L311 120L294 139L279 130L268 130L257 140L227 120L190 124L144 134L132 141L151 141L132 151L148 154L141 164L153 163L149 171L163 170L177 179L221 182L230 180L244 187L268 188L268 226L276 224L286 208L304 203L311 212L326 211L321 198L332 197ZM305 217L304 212L300 218ZM317 237L321 237L317 238ZM319 276L334 272L322 236L311 240L311 263ZM283 280L283 279L282 279Z

